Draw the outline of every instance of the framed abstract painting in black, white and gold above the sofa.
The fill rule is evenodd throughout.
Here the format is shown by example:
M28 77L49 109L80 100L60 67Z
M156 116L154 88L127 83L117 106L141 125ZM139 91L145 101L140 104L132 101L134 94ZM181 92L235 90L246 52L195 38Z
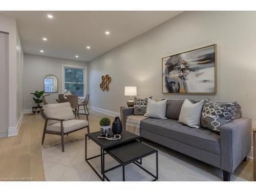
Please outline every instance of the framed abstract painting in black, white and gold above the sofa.
M215 94L216 45L162 58L163 93Z

